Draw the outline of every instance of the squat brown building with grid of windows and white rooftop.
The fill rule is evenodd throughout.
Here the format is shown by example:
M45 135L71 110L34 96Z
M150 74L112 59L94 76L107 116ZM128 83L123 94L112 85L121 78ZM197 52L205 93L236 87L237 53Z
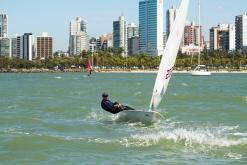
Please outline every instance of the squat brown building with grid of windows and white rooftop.
M39 59L53 57L53 37L48 36L48 33L42 33L42 36L37 36L36 57Z

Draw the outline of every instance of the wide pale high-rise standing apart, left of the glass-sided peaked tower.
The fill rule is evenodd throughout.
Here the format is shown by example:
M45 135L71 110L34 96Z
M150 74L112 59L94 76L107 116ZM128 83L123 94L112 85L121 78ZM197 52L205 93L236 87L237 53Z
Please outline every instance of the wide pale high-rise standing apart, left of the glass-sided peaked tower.
M89 50L89 36L87 35L87 21L77 17L70 22L69 54L80 55Z

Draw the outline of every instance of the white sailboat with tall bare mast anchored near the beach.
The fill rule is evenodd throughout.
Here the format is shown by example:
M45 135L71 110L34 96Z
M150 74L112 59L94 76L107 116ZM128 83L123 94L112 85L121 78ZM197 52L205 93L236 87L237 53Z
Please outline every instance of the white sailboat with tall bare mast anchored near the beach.
M210 76L211 72L209 72L206 68L205 65L201 65L201 4L200 4L200 0L198 0L198 8L199 8L199 54L198 54L198 65L197 67L191 71L191 75L192 76Z

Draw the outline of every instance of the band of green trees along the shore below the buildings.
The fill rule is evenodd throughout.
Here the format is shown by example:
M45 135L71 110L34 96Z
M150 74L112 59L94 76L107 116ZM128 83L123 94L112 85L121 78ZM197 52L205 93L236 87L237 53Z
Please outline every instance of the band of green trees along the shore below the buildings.
M99 68L128 68L128 69L157 69L160 63L160 57L152 57L147 54L129 56L127 58L120 55L121 51L110 49L107 51L99 51L94 53L94 66ZM193 58L192 58L193 57ZM0 69L53 69L55 66L64 68L85 68L89 59L92 59L92 53L83 51L80 56L66 57L54 54L53 58L45 60L25 61L19 58L0 57ZM190 69L197 65L198 57L179 54L176 61L176 68L179 70ZM225 52L204 52L201 55L201 64L207 65L212 69L232 68L239 69L247 67L247 56L239 53Z

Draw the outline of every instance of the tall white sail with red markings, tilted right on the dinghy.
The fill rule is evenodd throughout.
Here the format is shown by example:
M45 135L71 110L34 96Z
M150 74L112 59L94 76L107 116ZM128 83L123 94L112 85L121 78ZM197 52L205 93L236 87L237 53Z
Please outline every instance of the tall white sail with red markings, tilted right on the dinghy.
M182 0L177 16L172 25L172 30L170 32L164 54L161 59L159 71L153 89L153 95L150 103L150 110L152 111L158 107L170 81L184 32L188 5L189 0Z

